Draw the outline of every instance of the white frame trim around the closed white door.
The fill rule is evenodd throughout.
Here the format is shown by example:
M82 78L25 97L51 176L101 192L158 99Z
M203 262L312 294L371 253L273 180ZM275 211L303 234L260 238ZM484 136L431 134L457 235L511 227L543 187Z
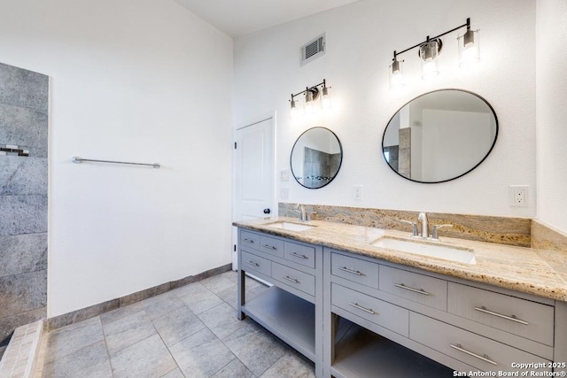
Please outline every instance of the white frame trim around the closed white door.
M258 117L253 118L251 121L242 122L238 124L236 127L232 129L232 220L236 220L237 216L237 150L234 148L234 143L237 143L237 132L245 127L250 127L256 125L260 122L265 120L272 120L272 150L274 152L274 161L272 166L272 177L271 180L274 182L273 190L272 190L272 212L269 214L270 217L277 217L278 209L277 209L277 198L276 198L276 161L277 161L277 154L276 154L276 130L277 130L277 119L276 119L276 111L268 112ZM232 244L231 244L230 256L232 259L232 270L237 270L237 251L238 251L238 230L236 227L232 227Z

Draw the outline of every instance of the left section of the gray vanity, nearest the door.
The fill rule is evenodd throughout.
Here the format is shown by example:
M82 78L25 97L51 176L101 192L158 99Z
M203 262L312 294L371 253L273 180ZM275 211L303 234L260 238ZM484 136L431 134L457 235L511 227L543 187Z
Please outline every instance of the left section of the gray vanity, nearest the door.
M322 376L322 247L238 229L238 319L251 317L315 362ZM245 274L273 284L246 300Z

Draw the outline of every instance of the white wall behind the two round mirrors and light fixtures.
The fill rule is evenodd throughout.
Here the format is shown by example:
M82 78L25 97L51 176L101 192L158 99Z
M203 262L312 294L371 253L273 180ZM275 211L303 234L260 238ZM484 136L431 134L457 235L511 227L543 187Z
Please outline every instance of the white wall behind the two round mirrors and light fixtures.
M475 70L464 73L457 67L457 34L447 35L439 77L422 81L412 50L403 57L409 89L392 94L392 51L445 32L467 17L481 29L481 61ZM531 217L536 191L534 28L532 0L361 0L246 35L235 41L235 124L276 110L278 170L289 169L291 147L307 128L329 127L338 135L344 160L337 178L317 190L278 182L280 188L289 186L289 202ZM300 67L299 46L322 32L326 54ZM333 112L291 121L290 94L323 78L332 87ZM492 104L500 121L498 141L481 166L458 180L434 185L404 180L384 162L384 128L409 99L442 88L468 89ZM509 206L510 184L530 185L529 207ZM364 186L361 201L353 199L354 185Z

